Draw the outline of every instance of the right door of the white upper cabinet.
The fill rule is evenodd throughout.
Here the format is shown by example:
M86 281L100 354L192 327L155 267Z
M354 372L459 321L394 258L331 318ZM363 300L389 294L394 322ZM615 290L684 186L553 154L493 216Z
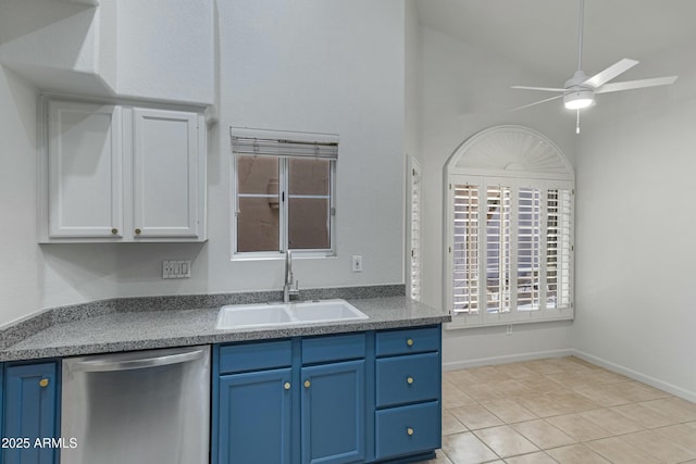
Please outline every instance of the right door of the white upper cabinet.
M133 110L135 239L199 236L200 163L197 113ZM204 186L203 186L204 188Z

